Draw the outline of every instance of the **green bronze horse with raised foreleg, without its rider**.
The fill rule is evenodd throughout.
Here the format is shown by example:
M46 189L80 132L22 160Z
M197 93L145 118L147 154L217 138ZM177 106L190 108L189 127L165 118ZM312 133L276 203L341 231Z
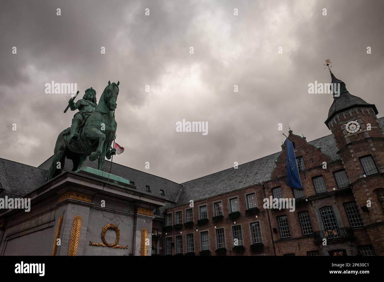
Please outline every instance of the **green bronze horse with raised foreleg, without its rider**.
M78 170L88 156L91 161L99 158L98 168L101 170L104 158L109 159L115 154L116 149L111 149L111 144L116 136L117 123L114 113L117 107L119 83L108 81L98 106L81 127L78 140L70 140L70 128L59 134L52 164L48 170L48 180L62 172L66 157L73 162L72 171Z

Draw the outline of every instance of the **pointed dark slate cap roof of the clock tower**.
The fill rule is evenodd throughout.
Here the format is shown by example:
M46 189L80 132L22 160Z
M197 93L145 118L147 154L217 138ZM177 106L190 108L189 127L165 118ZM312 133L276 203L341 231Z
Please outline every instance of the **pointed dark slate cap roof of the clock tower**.
M325 121L325 124L328 126L329 120L333 117L334 114L337 114L338 112L342 112L344 110L347 110L351 107L355 106L367 106L372 107L375 111L375 114L378 113L376 106L373 104L369 104L360 97L354 96L350 94L345 86L345 83L341 81L340 79L337 79L334 74L331 72L331 78L332 83L340 83L340 96L333 97L333 103L328 111L328 118Z

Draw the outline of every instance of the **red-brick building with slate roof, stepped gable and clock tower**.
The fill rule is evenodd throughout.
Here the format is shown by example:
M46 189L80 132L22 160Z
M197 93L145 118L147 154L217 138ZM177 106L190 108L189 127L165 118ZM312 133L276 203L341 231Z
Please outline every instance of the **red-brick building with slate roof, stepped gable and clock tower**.
M325 122L332 135L308 143L289 132L303 189L286 186L285 144L182 183L164 213L163 255L384 255L384 120L331 78L340 83ZM295 211L265 208L270 196L295 198Z

